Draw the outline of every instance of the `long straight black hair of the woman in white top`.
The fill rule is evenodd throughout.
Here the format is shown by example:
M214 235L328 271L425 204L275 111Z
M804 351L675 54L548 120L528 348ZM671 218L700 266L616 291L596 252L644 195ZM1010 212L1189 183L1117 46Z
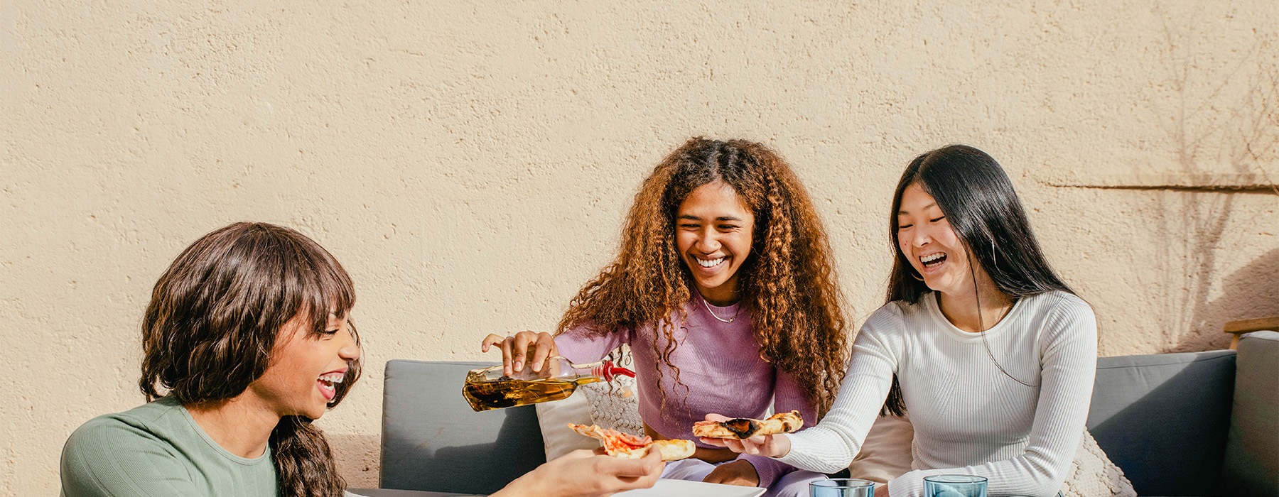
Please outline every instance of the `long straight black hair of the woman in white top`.
M914 304L932 291L921 281L897 240L902 193L912 184L932 195L971 259L981 264L1005 295L1017 300L1051 290L1074 294L1044 259L1013 181L999 162L977 148L952 144L914 157L897 183L889 211L889 243L897 257L893 258L886 302ZM895 376L881 414L906 414Z

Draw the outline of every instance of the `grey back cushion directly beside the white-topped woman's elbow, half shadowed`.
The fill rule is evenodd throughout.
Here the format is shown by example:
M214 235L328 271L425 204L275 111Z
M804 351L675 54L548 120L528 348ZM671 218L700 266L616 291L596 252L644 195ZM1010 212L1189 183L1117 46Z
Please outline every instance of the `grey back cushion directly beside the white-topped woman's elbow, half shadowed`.
M1137 494L1209 496L1233 390L1233 350L1100 358L1087 425Z

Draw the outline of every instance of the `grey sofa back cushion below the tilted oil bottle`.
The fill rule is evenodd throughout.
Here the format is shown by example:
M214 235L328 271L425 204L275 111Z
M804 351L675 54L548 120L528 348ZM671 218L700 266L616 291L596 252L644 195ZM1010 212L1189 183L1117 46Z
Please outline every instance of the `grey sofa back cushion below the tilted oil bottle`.
M489 363L390 360L382 397L382 488L494 493L546 463L533 406L476 413L467 371Z

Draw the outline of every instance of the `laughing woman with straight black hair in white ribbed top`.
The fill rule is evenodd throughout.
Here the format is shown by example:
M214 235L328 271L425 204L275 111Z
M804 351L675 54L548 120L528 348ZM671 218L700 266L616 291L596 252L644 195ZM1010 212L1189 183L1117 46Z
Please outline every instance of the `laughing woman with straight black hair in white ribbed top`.
M862 326L830 414L799 433L706 442L834 473L876 414L909 411L913 470L876 496L922 496L935 474L986 477L993 496L1056 494L1092 395L1092 309L1045 262L1012 181L980 149L916 157L890 222L888 303Z

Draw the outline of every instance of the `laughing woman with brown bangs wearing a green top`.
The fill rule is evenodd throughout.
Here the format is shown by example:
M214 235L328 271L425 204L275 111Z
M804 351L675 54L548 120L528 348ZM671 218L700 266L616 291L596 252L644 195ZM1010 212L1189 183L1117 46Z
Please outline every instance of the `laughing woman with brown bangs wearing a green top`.
M354 304L341 264L294 230L237 222L196 240L156 282L142 322L148 404L70 436L63 494L341 496L312 420L359 377ZM651 486L660 468L582 451L498 494L606 494Z

